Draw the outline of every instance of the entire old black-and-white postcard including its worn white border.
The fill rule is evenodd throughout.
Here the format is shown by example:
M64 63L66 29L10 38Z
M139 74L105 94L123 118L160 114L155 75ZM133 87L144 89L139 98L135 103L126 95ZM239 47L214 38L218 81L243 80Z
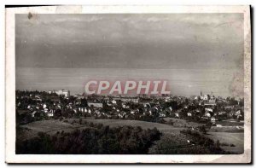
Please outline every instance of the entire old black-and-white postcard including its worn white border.
M250 6L6 8L7 163L250 163Z

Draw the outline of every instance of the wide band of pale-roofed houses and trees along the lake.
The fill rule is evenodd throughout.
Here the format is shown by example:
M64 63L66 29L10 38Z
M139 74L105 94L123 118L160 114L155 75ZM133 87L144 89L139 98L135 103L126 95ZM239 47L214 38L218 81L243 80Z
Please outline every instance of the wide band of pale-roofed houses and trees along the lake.
M16 110L32 118L55 116L66 118L96 117L103 119L152 118L242 119L243 107L230 105L214 96L70 96L68 90L49 92L16 92ZM224 99L223 99L224 100ZM64 115L65 113L65 115Z

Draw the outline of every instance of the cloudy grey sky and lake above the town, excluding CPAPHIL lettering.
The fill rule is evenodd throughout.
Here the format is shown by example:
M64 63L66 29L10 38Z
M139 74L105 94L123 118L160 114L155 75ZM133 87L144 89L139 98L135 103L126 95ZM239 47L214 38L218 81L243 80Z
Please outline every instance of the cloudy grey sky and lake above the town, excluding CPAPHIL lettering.
M243 14L16 14L16 89L166 79L178 96L243 95Z

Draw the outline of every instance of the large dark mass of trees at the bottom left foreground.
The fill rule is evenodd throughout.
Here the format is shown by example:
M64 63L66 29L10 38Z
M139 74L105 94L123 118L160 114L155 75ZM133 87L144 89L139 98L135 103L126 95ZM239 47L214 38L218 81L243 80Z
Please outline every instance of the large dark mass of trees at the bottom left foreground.
M161 136L156 128L84 124L88 127L83 130L62 130L51 136L38 132L37 137L17 141L16 154L148 154L148 148Z

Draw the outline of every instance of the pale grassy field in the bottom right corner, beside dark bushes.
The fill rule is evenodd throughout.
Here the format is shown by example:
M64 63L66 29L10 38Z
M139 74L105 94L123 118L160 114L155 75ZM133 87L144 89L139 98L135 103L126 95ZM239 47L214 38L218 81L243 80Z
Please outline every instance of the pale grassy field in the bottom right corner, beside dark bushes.
M208 132L207 136L215 142L219 141L221 148L225 151L243 154L244 133ZM231 144L234 144L235 147L230 147Z

